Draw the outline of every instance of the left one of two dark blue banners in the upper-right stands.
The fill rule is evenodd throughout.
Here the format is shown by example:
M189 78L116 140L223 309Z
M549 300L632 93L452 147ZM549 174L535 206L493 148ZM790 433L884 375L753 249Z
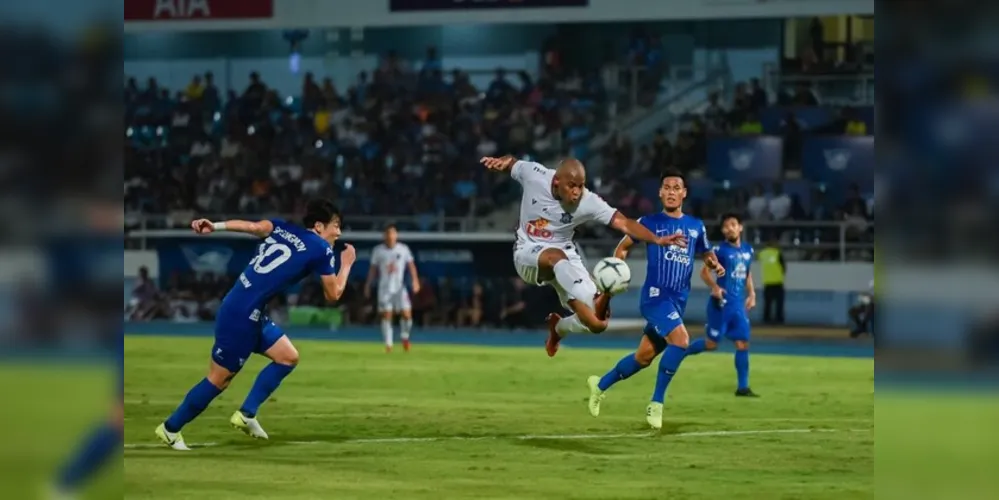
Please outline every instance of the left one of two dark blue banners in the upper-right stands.
M717 137L708 141L708 174L735 183L776 180L784 170L780 137Z

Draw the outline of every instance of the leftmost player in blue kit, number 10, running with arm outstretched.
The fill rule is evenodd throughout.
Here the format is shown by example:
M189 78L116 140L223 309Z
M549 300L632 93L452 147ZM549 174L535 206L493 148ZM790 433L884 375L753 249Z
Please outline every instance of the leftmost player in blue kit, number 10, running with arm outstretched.
M303 226L282 220L198 219L191 223L198 234L236 231L264 241L219 307L208 376L156 428L161 441L175 450L189 450L181 429L229 386L251 353L263 354L272 362L261 370L243 405L229 422L251 437L267 439L257 421L257 411L295 369L298 350L267 317L265 305L275 294L309 274L319 275L327 301L340 298L355 260L352 246L335 243L340 236L340 220L340 211L332 202L314 200L306 207Z

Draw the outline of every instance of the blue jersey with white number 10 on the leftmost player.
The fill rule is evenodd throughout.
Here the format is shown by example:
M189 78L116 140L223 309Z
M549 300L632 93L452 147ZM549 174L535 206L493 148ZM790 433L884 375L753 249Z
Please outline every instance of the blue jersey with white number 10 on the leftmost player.
M306 276L337 273L340 252L333 245L301 226L278 219L271 223L274 231L260 243L257 255L225 296L220 313L260 314L274 295Z

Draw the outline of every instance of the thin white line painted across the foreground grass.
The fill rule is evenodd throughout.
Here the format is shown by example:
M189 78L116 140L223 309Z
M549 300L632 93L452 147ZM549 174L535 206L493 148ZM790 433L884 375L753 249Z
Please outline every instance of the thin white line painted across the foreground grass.
M667 434L666 436L675 438L687 437L726 437L726 436L757 436L767 434L818 434L834 432L873 432L873 429L760 429L746 431L704 431L704 432L681 432L678 434ZM538 441L538 440L594 440L594 439L636 439L655 437L655 432L634 432L628 434L525 434L521 436L430 436L430 437L395 437L395 438L358 438L328 441L277 441L277 444L290 445L317 445L317 444L394 444L394 443L439 443L449 441ZM223 443L189 443L192 448L209 448L222 446ZM164 448L165 445L159 443L125 443L125 449L148 449Z

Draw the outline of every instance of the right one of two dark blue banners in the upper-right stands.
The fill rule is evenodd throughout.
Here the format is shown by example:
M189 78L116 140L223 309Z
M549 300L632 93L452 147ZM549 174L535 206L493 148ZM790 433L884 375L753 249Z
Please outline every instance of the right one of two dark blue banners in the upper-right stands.
M873 189L874 137L809 137L801 148L801 169L813 181Z

